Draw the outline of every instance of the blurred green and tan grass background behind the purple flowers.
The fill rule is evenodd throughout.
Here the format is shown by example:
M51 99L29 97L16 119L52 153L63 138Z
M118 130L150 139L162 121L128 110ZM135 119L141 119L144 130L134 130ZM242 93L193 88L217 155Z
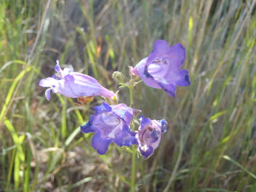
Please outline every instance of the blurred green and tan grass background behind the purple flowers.
M191 85L176 98L140 83L135 107L169 122L138 162L138 191L256 191L255 0L1 0L0 191L128 191L131 155L100 156L80 133L90 105L39 79L62 67L116 91L115 70L147 57L156 39L187 50ZM120 91L129 103L128 90Z

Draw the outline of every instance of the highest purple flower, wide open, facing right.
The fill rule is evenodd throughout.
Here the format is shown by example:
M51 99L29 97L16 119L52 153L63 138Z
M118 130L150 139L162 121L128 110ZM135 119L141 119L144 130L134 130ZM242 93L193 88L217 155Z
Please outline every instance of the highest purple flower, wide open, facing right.
M187 69L180 69L186 57L181 44L169 47L166 41L155 41L154 49L131 70L143 82L156 89L163 89L175 97L176 86L190 85Z

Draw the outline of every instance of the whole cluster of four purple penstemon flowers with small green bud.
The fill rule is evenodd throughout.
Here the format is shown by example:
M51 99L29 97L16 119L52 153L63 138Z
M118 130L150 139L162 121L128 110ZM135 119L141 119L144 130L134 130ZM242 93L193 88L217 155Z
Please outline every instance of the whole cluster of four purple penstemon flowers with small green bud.
M124 83L124 77L119 72L114 73L114 79L121 86L133 89L138 83L135 79L141 77L146 85L163 89L168 95L175 97L177 86L190 84L188 70L180 69L185 57L186 50L181 44L170 47L166 41L159 39L147 58L142 59L134 68L130 67L130 84ZM77 98L81 103L92 101L94 96L118 100L117 94L100 85L93 77L68 68L62 70L59 61L55 71L55 75L39 82L40 86L49 87L45 91L47 100L51 99L51 92ZM141 156L148 158L153 155L161 141L161 135L166 132L167 122L164 119L151 120L144 116L139 118L138 130L131 129L133 119L141 112L133 108L133 105L128 107L125 103L109 105L103 102L102 105L95 106L94 111L89 121L81 126L81 131L94 133L91 146L100 155L106 154L108 146L114 142L119 147L138 146Z

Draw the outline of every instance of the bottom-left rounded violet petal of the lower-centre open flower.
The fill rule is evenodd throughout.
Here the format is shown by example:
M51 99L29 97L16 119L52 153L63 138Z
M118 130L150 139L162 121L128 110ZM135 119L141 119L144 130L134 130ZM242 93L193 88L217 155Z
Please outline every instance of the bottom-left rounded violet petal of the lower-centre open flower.
M110 142L111 142L111 139L102 139L100 137L100 133L96 133L92 138L91 146L95 150L97 150L98 154L104 155L108 150L108 146Z

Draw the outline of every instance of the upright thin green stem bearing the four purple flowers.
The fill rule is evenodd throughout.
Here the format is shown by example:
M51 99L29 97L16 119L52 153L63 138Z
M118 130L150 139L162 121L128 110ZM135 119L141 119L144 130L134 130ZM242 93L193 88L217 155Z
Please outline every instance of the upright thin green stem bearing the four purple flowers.
M129 86L130 92L130 107L133 107L133 86ZM134 131L133 121L131 122L132 130ZM135 177L136 177L136 149L132 145L132 172L131 172L131 192L135 191Z

